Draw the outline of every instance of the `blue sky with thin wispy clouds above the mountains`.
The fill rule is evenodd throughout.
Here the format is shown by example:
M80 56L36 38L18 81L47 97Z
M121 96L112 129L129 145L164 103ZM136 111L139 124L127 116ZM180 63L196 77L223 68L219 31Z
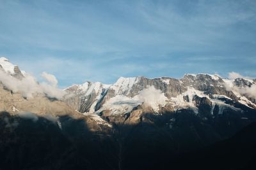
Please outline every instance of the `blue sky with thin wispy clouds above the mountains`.
M61 87L120 76L256 77L256 1L0 0L0 56Z

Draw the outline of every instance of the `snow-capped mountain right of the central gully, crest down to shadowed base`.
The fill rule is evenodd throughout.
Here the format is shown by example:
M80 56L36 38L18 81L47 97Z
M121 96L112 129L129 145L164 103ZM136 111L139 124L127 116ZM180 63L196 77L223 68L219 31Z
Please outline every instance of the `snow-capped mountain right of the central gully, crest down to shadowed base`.
M255 85L245 78L185 74L180 79L120 78L95 90L91 85L81 92L84 85L76 85L66 91L81 113L113 124L122 169L166 169L168 159L230 138L256 122Z

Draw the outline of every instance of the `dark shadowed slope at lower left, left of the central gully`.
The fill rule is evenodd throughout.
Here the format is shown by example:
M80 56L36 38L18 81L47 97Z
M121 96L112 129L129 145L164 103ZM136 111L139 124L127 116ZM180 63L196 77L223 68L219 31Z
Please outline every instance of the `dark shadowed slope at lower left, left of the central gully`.
M92 134L81 120L0 115L0 169L117 169L113 139ZM104 151L104 152L103 152Z

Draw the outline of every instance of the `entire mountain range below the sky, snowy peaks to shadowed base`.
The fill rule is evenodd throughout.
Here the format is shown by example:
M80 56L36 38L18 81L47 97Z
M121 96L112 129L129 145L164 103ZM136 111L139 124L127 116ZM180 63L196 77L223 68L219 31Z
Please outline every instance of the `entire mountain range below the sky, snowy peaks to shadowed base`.
M0 169L182 167L191 154L236 139L256 121L253 78L138 76L59 89L53 75L42 77L38 82L0 58Z

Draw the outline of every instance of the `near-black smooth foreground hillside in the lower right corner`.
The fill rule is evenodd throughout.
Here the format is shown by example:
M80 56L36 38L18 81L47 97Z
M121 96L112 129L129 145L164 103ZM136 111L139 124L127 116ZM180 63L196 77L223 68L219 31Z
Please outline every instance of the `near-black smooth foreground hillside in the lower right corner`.
M181 155L173 161L173 166L180 169L255 169L255 160L256 123L253 122L232 138Z

